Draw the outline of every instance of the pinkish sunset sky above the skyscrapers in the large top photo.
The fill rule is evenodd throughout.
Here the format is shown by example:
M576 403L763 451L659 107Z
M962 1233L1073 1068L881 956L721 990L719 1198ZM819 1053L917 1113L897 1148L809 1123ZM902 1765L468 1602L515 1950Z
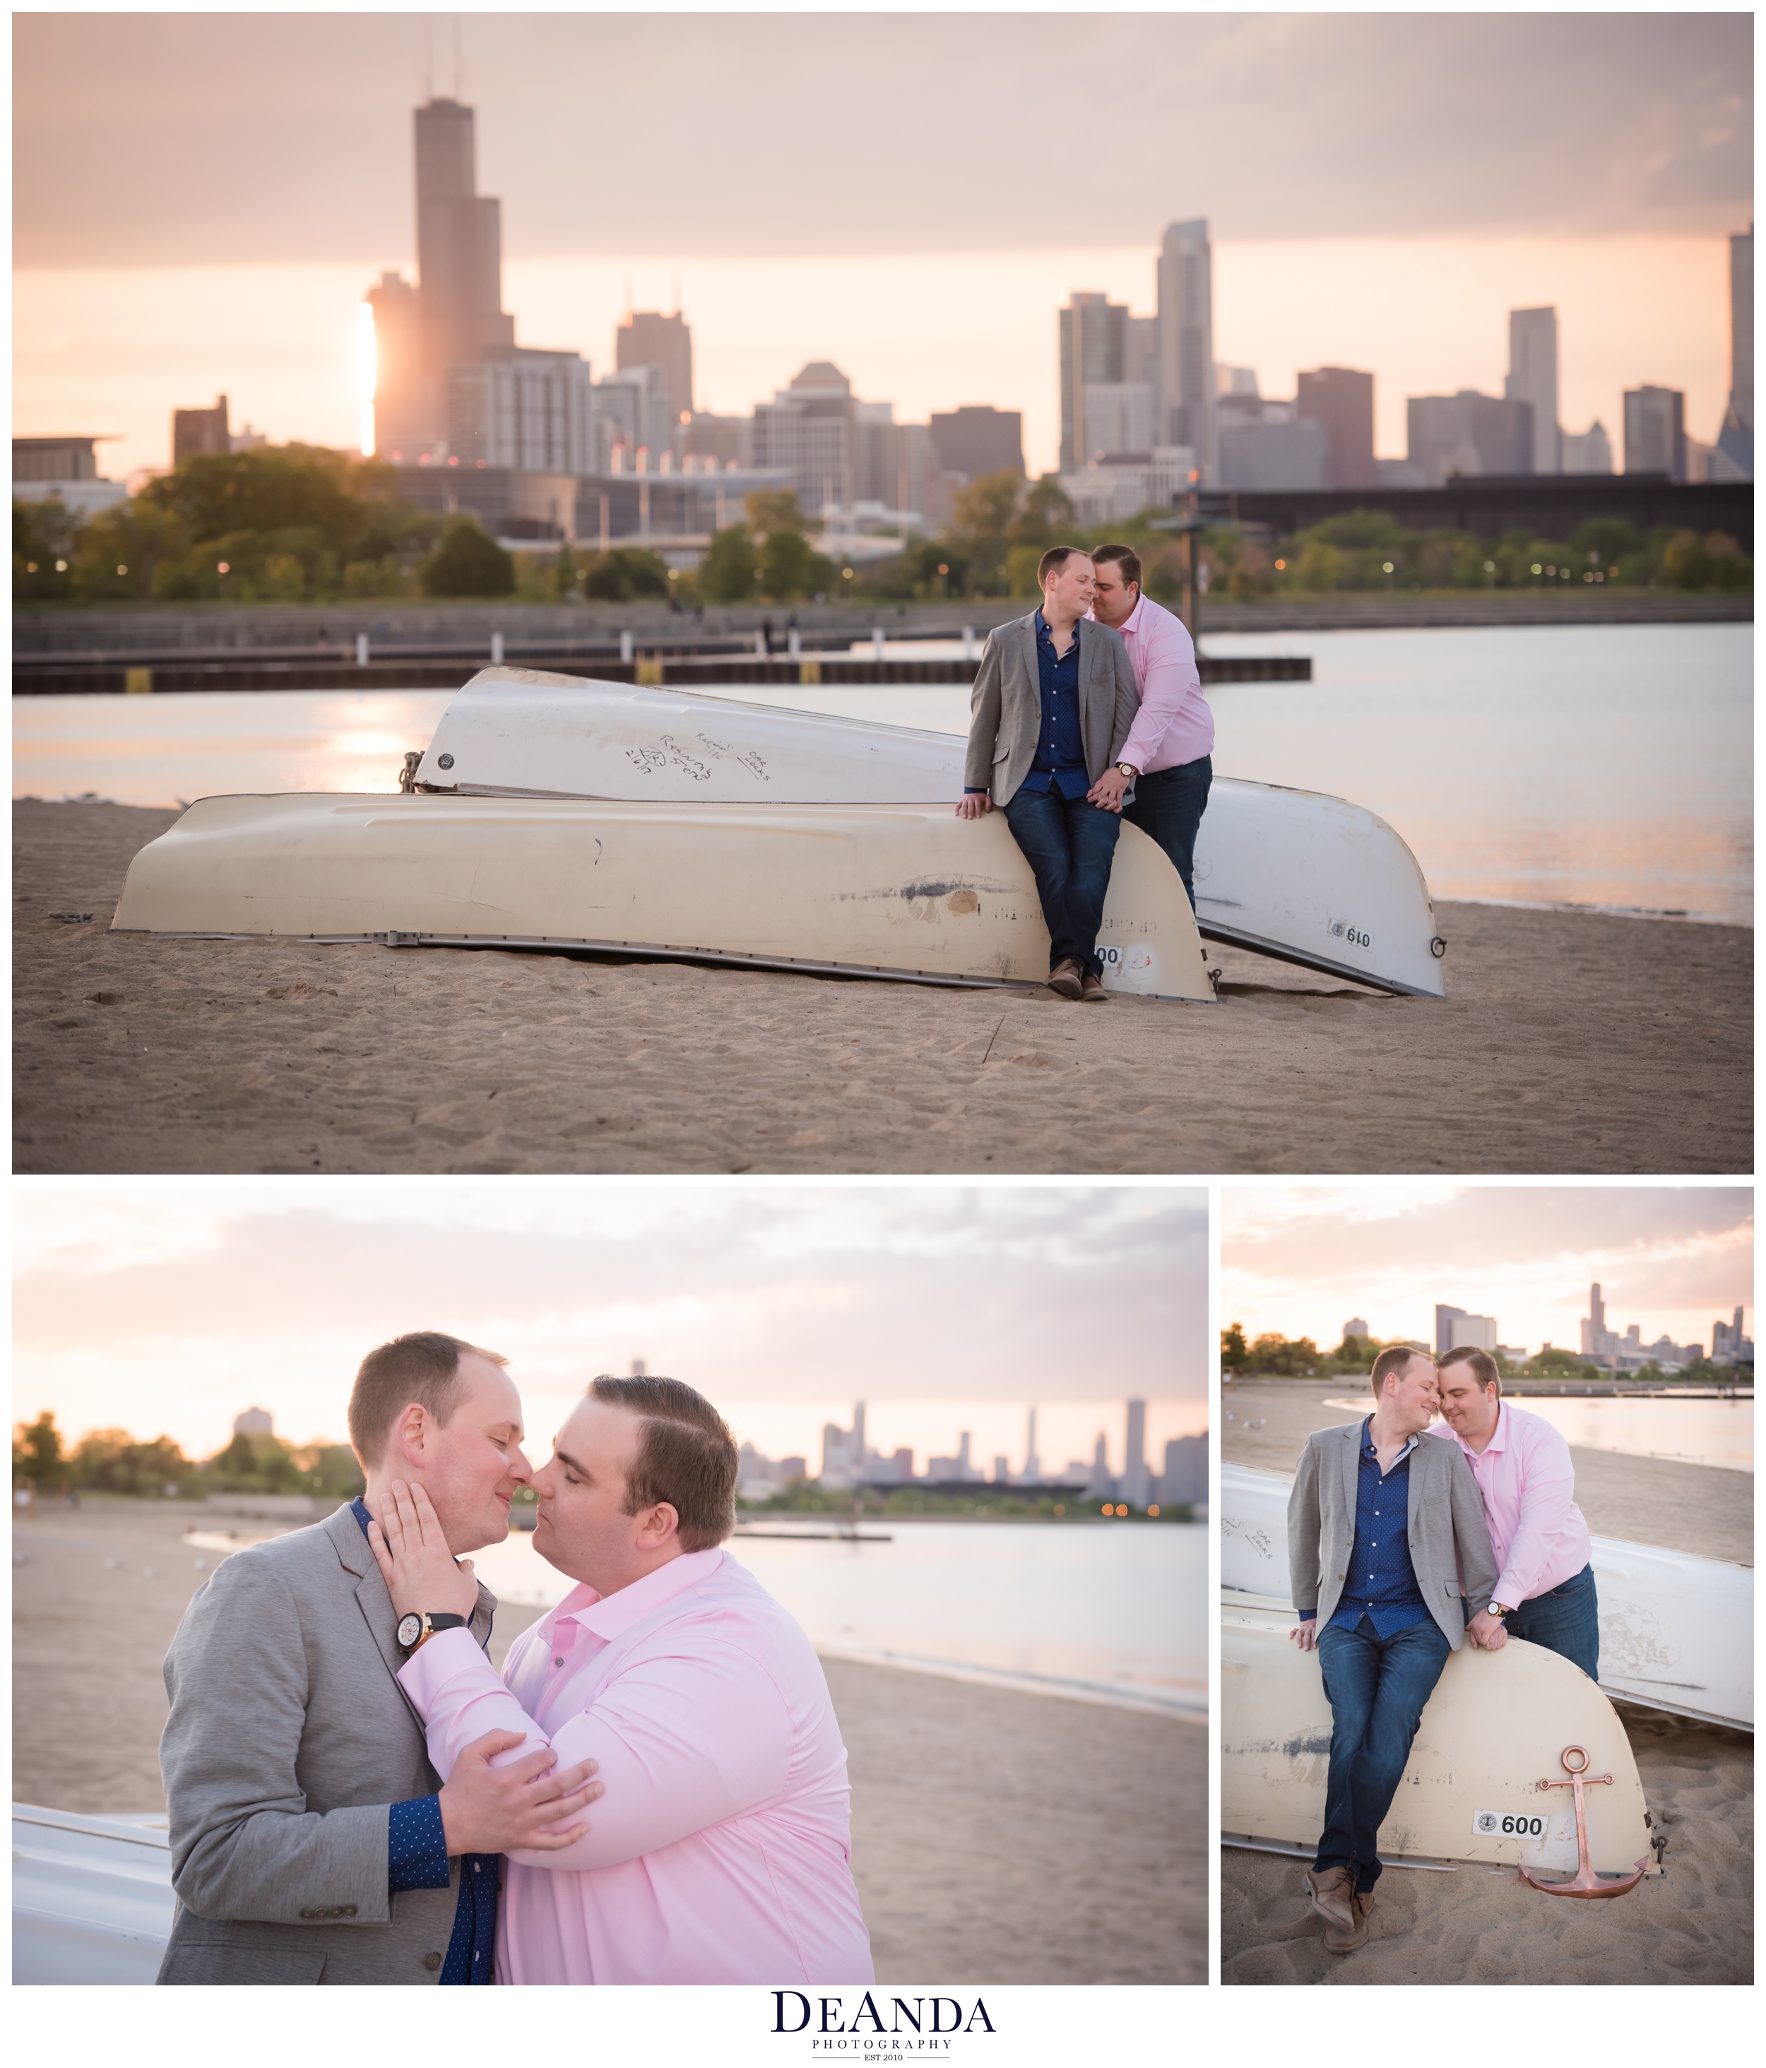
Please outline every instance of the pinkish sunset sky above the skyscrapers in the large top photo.
M412 265L424 21L438 93L459 23L521 341L604 362L627 283L678 279L701 405L827 356L902 418L1024 409L1053 465L1055 310L1150 312L1204 215L1216 356L1270 395L1371 366L1381 451L1406 393L1499 391L1532 302L1567 428L1638 381L1700 436L1723 409L1745 14L25 14L19 428L122 432L120 474L225 391L349 438L354 306Z

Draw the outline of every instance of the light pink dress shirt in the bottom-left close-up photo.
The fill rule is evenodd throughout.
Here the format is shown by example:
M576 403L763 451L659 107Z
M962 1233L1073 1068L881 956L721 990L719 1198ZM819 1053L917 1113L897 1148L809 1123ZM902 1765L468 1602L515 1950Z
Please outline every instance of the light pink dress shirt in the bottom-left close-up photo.
M728 1551L689 1551L606 1599L567 1594L509 1648L430 1638L399 1683L449 1774L486 1731L606 1795L562 1853L503 1863L496 1981L869 1983L846 1745L809 1638Z

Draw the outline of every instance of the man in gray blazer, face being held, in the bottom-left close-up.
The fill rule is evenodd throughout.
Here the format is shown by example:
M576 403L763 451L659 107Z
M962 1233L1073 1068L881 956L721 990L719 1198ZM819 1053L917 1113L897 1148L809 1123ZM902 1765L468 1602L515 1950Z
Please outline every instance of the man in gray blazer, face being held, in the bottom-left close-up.
M159 1741L178 1892L161 1983L488 1983L496 1855L587 1828L542 1828L600 1795L587 1768L494 1768L509 1731L440 1785L395 1675L463 1619L401 1621L366 1534L393 1477L422 1481L451 1551L509 1534L527 1460L505 1363L440 1334L372 1350L349 1396L364 1497L236 1551L184 1611ZM480 1586L480 1644L494 1609Z

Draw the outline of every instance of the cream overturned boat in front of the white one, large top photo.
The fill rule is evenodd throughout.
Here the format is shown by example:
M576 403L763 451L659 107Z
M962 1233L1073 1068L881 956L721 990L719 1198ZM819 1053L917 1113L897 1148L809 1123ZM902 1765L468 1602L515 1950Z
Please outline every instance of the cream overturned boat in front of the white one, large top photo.
M589 947L763 968L1024 984L1036 883L999 815L949 804L211 796L128 866L118 933ZM1125 825L1104 986L1212 999L1183 885Z

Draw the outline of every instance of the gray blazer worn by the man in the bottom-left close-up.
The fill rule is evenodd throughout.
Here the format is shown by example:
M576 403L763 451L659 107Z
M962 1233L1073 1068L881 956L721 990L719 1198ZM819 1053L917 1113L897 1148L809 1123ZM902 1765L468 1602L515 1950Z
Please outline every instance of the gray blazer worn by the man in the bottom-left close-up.
M480 1586L480 1644L494 1609ZM459 1861L447 1888L387 1888L391 1805L440 1787L393 1677L395 1630L347 1506L236 1551L196 1590L165 1654L178 1915L161 1983L438 1979Z

